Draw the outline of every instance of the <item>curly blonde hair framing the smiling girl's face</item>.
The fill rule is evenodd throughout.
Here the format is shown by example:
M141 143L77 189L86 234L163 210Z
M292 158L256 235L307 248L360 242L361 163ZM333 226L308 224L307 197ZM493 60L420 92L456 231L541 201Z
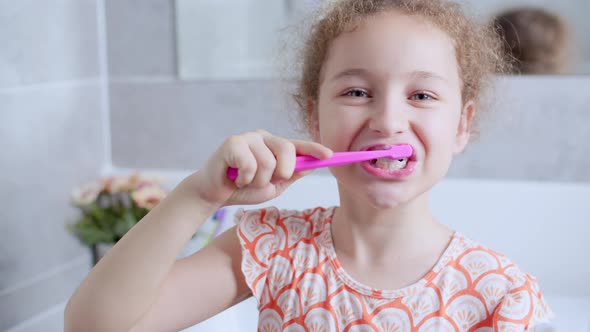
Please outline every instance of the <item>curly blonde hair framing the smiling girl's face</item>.
M320 72L331 42L362 20L386 11L426 19L447 33L455 44L463 102L480 101L494 73L508 72L503 42L496 29L476 23L460 5L445 0L339 0L318 14L303 42L301 77L293 94L303 123L309 120L309 101L317 101Z

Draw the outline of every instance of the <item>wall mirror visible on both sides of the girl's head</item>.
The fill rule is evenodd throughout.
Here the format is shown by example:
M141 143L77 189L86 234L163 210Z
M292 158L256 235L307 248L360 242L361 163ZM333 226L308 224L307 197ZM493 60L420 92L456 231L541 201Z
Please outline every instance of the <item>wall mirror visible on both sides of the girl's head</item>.
M284 28L337 0L176 0L178 75L183 80L269 79L281 65ZM497 22L515 73L590 74L588 0L457 0ZM518 10L518 11L516 11Z

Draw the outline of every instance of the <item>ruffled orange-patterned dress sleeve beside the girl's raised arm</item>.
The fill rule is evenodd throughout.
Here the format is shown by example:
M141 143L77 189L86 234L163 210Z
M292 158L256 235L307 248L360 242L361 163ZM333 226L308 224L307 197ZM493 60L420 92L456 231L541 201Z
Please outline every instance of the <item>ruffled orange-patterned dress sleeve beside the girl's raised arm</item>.
M276 224L279 210L263 208L236 212L235 222L242 247L242 273L259 307L268 296L267 275L272 257L277 251Z

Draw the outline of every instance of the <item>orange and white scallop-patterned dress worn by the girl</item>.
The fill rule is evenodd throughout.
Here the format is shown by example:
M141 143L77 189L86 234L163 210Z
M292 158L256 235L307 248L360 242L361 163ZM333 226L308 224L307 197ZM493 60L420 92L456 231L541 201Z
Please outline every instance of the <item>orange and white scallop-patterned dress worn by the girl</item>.
M259 331L525 331L552 316L533 277L458 233L413 285L363 285L336 257L335 209L236 214Z

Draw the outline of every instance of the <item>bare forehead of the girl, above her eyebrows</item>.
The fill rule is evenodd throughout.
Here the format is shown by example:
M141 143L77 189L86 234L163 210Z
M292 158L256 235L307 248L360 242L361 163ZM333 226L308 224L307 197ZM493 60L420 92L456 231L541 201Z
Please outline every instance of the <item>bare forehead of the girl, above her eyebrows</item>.
M431 72L459 82L455 47L448 34L425 19L389 11L362 20L330 45L322 80L348 68L396 77Z

